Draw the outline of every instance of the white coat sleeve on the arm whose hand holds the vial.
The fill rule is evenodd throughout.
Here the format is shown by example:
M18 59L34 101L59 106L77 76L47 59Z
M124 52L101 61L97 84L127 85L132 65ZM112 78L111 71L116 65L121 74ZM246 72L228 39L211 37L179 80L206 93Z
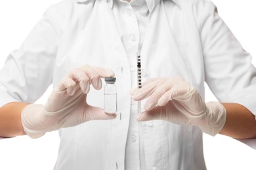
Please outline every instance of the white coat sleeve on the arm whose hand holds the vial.
M53 64L61 29L50 7L18 50L0 70L0 107L12 101L33 103L52 83Z

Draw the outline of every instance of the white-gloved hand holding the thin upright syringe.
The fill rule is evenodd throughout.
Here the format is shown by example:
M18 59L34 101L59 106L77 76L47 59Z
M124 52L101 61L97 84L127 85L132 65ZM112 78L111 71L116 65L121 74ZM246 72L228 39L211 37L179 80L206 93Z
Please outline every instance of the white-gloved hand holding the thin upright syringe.
M135 101L148 100L138 121L166 120L174 124L198 126L216 135L226 122L226 110L219 102L204 103L200 93L181 77L152 78L142 88L132 90Z

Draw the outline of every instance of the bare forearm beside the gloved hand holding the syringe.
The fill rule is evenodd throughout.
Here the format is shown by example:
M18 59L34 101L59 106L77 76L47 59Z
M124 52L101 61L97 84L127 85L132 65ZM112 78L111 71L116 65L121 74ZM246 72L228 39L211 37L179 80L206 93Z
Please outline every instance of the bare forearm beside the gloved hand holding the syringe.
M221 103L226 109L226 124L220 133L236 139L256 138L255 116L237 103Z

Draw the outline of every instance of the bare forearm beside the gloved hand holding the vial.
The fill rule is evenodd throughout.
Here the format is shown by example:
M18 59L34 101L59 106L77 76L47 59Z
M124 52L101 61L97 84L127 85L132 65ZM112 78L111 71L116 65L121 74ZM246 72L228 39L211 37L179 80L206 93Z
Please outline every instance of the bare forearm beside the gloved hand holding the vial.
M12 102L0 108L0 137L25 135L21 112L28 103Z

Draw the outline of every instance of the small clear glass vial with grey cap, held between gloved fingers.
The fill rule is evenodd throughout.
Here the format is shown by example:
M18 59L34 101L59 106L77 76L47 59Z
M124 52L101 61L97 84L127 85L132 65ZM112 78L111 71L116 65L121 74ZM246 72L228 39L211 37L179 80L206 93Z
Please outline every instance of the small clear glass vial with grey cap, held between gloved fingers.
M117 90L116 78L105 78L106 85L104 86L104 111L107 113L114 113L117 111Z

